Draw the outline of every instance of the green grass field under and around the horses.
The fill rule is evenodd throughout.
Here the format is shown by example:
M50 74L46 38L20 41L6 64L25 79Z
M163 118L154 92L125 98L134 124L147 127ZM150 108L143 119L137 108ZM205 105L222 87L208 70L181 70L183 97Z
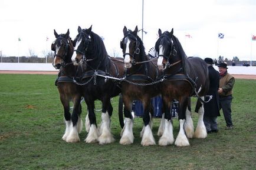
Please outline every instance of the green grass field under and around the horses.
M235 82L234 129L224 129L221 112L218 133L205 139L190 139L191 146L180 148L141 146L141 118L134 122L134 144L120 145L117 97L112 101L114 143L86 144L83 129L81 142L67 144L61 139L65 124L55 78L55 75L0 75L0 169L256 169L255 80ZM83 120L85 115L83 105ZM98 122L100 115L97 114ZM197 119L193 113L195 125ZM160 119L153 122L153 135L158 141ZM177 119L173 120L173 128L176 137Z

